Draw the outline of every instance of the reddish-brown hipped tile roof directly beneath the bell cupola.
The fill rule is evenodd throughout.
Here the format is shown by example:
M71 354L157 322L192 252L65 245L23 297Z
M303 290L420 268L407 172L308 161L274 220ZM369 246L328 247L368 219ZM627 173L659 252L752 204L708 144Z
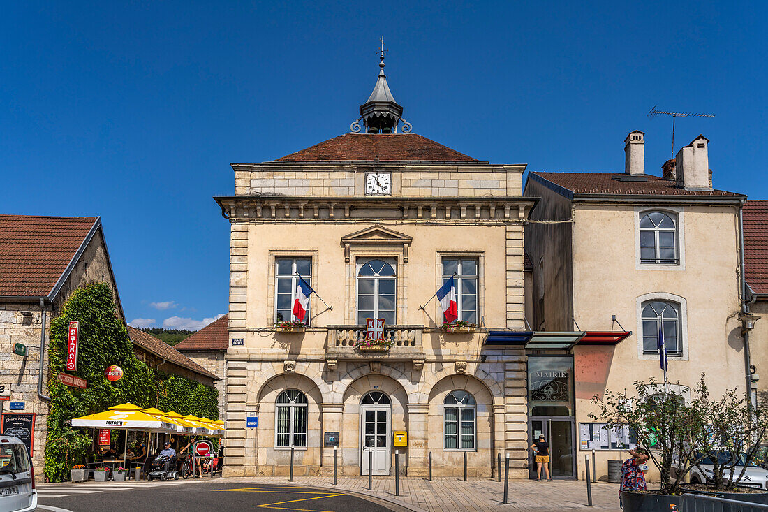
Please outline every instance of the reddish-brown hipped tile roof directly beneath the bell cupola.
M275 161L476 161L415 134L347 133Z

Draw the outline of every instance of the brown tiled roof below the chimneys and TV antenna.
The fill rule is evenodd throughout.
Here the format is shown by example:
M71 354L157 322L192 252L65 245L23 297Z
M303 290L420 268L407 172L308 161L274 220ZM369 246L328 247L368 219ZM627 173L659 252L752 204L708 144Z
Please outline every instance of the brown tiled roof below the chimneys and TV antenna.
M554 185L565 188L574 194L740 195L722 190L686 190L677 187L674 181L665 180L654 175L645 175L647 181L622 181L623 178L628 178L623 172L531 172L531 177L534 176L550 181ZM617 180L614 178L621 179ZM537 181L541 181L541 179Z

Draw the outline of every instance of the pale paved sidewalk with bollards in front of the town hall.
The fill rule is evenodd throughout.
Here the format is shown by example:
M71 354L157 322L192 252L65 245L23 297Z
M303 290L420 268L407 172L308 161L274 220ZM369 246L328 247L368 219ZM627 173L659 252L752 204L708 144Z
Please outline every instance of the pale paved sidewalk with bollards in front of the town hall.
M587 484L583 481L555 480L536 482L534 480L510 480L509 503L503 504L504 483L485 478L435 478L431 482L422 477L400 479L400 496L395 496L394 477L373 477L373 490L368 490L368 477L339 477L339 485L333 487L333 477L294 477L293 483L287 477L223 478L220 481L243 484L293 484L309 487L330 487L349 490L356 494L372 494L385 500L405 505L419 512L458 511L495 512L555 512L557 510L611 510L618 512L618 486L598 482L592 484L592 503L587 506Z

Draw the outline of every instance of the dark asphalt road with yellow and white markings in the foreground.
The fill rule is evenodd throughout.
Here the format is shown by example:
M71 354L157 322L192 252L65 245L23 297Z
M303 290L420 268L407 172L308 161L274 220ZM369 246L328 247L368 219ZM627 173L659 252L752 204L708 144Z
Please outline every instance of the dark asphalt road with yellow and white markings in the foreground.
M223 512L224 510L302 510L303 512L392 512L344 491L268 484L231 484L226 480L40 486L38 512ZM123 487L123 490L110 487ZM128 487L128 488L126 488Z

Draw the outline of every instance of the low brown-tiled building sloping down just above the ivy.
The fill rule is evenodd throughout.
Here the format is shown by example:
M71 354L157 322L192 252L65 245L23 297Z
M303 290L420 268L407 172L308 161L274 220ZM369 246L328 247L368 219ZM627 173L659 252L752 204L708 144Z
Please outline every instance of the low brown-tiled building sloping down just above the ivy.
M197 381L210 387L217 387L216 384L221 381L221 377L192 361L160 338L130 325L127 327L128 337L134 345L135 356L153 370L187 377L190 381Z

